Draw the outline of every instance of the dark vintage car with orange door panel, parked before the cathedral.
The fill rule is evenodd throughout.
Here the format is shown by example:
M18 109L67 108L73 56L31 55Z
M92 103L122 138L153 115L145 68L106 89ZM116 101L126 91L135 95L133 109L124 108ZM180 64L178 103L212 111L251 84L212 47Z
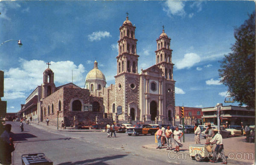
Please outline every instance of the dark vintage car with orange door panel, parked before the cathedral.
M140 134L151 134L154 135L157 131L157 128L152 128L149 124L137 124L135 128L127 129L126 133L131 136L135 134L136 136Z

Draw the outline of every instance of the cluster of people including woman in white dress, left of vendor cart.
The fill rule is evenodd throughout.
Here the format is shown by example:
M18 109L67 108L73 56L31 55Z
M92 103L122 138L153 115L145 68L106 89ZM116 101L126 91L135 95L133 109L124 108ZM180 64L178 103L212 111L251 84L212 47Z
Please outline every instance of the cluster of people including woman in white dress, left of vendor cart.
M167 143L167 150L172 149L172 138L174 139L174 144L175 144L175 150L176 152L180 151L180 147L182 147L182 143L180 138L183 136L183 132L179 130L178 127L175 128L175 130L172 132L172 129L170 129L170 126L167 126L167 129L162 126L160 129L159 126L157 126L157 132L156 132L156 137L157 137L157 148L161 149L162 146L165 143Z

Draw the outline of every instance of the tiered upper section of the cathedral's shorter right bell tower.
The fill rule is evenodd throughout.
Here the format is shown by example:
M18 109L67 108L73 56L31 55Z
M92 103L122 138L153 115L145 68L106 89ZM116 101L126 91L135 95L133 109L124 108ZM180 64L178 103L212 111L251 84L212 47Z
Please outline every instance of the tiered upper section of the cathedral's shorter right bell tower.
M173 80L172 49L170 49L171 38L164 32L157 39L156 65L163 71L163 77Z

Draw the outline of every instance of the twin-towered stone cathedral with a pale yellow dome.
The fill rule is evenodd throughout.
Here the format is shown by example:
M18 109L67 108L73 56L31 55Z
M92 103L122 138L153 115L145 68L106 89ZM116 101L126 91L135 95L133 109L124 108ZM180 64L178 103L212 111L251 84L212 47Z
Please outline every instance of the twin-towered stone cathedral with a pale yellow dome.
M126 20L119 28L115 84L106 87L104 74L95 61L86 76L90 94L103 97L105 118L115 121L150 122L175 120L175 81L173 80L171 39L163 31L157 38L155 64L138 72L136 27Z

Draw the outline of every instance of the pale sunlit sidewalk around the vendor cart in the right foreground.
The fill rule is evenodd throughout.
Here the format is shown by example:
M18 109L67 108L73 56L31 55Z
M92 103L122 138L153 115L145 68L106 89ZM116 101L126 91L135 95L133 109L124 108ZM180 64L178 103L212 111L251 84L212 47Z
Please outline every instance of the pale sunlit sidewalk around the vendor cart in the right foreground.
M255 163L255 143L246 143L245 137L230 137L223 139L224 152L227 157L228 163L239 165L252 165ZM201 144L206 143L205 139L201 139ZM183 143L183 147L180 148L178 153L189 153L189 145L195 144L195 142ZM216 145L214 145L215 148ZM162 149L156 149L157 143L144 145L143 148L168 153L170 150L166 150L167 146L163 146ZM175 150L174 141L172 140L172 151ZM247 154L248 153L248 154ZM249 156L250 154L250 156ZM248 159L249 157L249 159Z

